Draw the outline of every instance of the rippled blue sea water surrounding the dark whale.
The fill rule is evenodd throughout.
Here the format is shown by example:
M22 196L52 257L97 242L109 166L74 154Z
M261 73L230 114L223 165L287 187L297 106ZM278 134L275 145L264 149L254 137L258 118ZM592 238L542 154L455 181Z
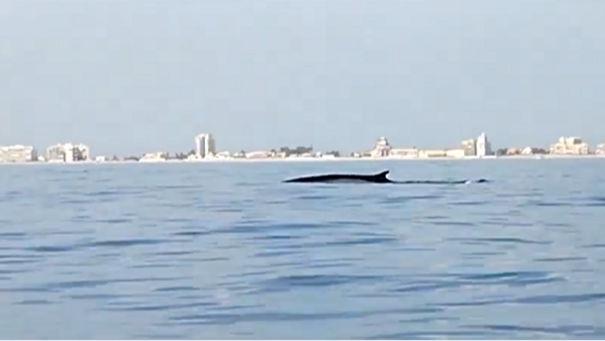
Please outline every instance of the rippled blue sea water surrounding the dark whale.
M304 185L325 172L470 185ZM603 340L605 160L0 167L1 340Z

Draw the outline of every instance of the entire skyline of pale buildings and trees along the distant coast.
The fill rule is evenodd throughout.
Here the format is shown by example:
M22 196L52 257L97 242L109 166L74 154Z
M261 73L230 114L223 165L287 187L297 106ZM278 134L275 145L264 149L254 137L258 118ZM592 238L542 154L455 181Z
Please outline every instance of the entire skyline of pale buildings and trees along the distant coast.
M477 138L466 139L457 147L444 149L420 149L417 147L394 148L386 137L379 137L373 148L366 151L357 151L348 156L342 156L339 151L313 151L313 147L281 147L279 150L270 151L217 151L214 136L209 133L198 134L194 137L193 149L187 153L170 154L162 151L145 153L142 156L113 157L91 156L90 148L85 144L56 144L46 148L45 153L39 153L34 147L28 145L11 145L0 147L0 163L20 162L111 162L111 161L137 161L137 162L162 162L172 160L201 161L201 160L224 160L224 159L334 159L337 157L352 157L359 159L428 159L428 158L482 158L482 157L505 157L515 155L589 155L597 154L605 156L605 143L597 145L591 150L581 137L560 137L557 142L548 148L522 147L501 148L494 150L485 133Z

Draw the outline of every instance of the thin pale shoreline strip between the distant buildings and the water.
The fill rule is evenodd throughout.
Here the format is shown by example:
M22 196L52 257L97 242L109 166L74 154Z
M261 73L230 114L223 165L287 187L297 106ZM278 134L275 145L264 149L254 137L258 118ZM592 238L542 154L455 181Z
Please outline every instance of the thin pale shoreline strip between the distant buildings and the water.
M0 162L0 165L123 165L123 164L206 164L206 163L246 163L246 162L351 162L351 161L482 161L482 160L548 160L548 159L605 159L605 154L591 155L508 155L508 156L468 156L468 157L290 157L258 159L200 159L163 161L79 161L79 162Z

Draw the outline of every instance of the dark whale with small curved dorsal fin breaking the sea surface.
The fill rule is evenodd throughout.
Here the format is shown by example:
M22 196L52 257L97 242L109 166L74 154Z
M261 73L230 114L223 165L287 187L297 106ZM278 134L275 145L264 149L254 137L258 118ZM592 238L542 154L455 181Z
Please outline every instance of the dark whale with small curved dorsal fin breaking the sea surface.
M400 184L400 185L462 185L462 184L483 184L488 182L486 179L479 180L404 180L396 181L388 179L388 170L376 174L321 174L295 177L287 179L286 183L322 183L322 184Z

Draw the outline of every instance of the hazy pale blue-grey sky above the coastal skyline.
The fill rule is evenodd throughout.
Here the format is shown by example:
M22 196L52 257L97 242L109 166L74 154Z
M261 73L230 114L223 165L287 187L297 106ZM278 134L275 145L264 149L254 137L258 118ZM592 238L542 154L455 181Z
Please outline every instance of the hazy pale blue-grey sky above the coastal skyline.
M605 142L603 0L1 0L0 145Z

